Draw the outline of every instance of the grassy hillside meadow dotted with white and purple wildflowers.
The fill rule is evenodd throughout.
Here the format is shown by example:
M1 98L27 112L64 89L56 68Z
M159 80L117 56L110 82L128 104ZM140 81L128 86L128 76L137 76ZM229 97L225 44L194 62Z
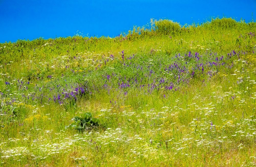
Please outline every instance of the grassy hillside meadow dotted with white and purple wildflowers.
M152 20L0 44L0 166L256 166L255 30Z

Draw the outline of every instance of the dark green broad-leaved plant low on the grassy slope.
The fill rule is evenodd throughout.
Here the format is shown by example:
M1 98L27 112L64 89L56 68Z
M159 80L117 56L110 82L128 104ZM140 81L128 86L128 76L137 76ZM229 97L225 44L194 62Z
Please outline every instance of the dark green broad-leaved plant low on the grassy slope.
M99 127L99 119L93 118L91 113L84 113L81 117L72 118L74 121L66 128L76 129L78 131L90 130Z

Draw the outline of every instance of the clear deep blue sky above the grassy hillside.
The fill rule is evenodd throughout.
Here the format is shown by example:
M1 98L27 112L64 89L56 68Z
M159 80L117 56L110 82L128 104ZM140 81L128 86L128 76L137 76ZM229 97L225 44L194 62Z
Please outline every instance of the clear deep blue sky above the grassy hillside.
M74 36L114 37L150 19L192 24L219 16L256 21L256 0L0 0L0 43Z

